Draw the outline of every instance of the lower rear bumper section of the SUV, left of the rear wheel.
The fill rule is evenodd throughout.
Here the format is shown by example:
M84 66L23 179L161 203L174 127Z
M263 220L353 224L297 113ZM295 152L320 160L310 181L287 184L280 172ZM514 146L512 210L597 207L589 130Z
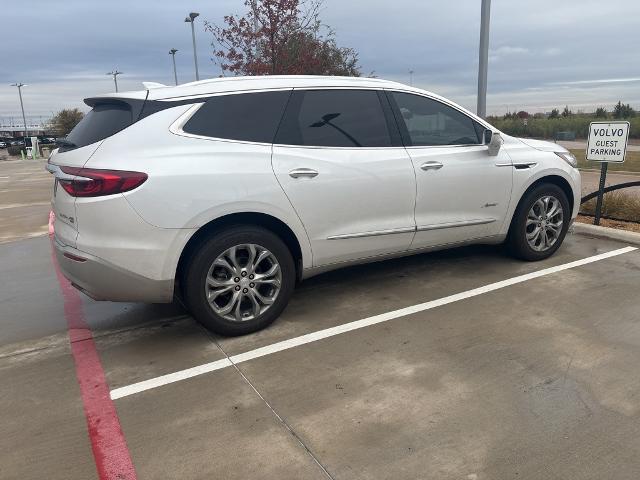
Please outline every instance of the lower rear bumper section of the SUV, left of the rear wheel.
M58 240L54 245L64 276L74 287L94 300L145 303L169 303L173 300L172 280L143 277L63 245Z

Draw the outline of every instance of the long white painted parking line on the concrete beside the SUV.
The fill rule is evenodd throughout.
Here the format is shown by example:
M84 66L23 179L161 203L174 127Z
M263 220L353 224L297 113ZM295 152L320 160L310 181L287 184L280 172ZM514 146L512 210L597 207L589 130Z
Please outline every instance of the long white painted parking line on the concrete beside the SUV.
M456 293L454 295L449 295L447 297L439 298L437 300L431 300L429 302L419 303L417 305L401 308L399 310L393 310L391 312L382 313L380 315L374 315L373 317L363 318L362 320L356 320L355 322L349 322L343 325L338 325L336 327L326 328L324 330L319 330L317 332L308 333L306 335L302 335L295 338L290 338L288 340L283 340L281 342L273 343L265 347L256 348L255 350L250 350L248 352L232 355L228 358L216 360L215 362L205 363L204 365L199 365L197 367L187 368L186 370L180 370L178 372L169 373L167 375L155 377L150 380L134 383L131 385L127 385L125 387L115 388L111 390L111 398L113 400L116 400L118 398L127 397L129 395L144 392L146 390L151 390L153 388L161 387L163 385L168 385L170 383L186 380L187 378L192 378L198 375L213 372L215 370L221 370L223 368L230 367L233 364L246 362L249 360L253 360L255 358L265 357L267 355L271 355L272 353L281 352L283 350L288 350L294 347L299 347L300 345L305 345L307 343L317 342L318 340L322 340L324 338L333 337L336 335L340 335L342 333L351 332L353 330L358 330L360 328L368 327L378 323L388 322L389 320L405 317L407 315L412 315L414 313L424 312L425 310L431 310L432 308L441 307L443 305L448 305L450 303L458 302L460 300L476 297L484 293L493 292L501 288L509 287L511 285L516 285L518 283L526 282L528 280L533 280L534 278L540 278L545 275L550 275L552 273L562 272L563 270L568 270L570 268L580 267L582 265L587 265L589 263L597 262L599 260L604 260L606 258L611 258L617 255L622 255L624 253L633 252L634 250L637 250L637 248L624 247L618 250L612 250L610 252L601 253L599 255L583 258L581 260L576 260L574 262L564 263L562 265L558 265L555 267L544 268L542 270L538 270L537 272L531 272L525 275L519 275L517 277L507 278L506 280L490 283L489 285L485 285L483 287L473 288L471 290L466 290L464 292Z

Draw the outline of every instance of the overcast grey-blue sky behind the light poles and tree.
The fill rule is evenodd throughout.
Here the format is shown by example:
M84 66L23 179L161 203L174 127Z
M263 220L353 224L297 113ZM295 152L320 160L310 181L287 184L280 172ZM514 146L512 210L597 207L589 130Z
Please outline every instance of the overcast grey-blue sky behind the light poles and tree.
M48 117L82 99L142 81L194 80L191 32L196 20L200 77L220 74L203 20L239 13L243 0L23 0L2 9L0 123L19 115L20 81L27 116ZM622 99L640 107L640 1L493 0L489 113L586 111ZM434 91L475 110L480 0L326 0L321 14L341 46L355 48L365 74Z

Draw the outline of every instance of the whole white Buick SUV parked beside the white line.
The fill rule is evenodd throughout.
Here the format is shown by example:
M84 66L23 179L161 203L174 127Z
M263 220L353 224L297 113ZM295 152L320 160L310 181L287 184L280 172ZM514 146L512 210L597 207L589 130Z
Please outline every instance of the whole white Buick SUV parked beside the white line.
M95 299L171 302L258 330L297 281L469 243L562 243L575 158L372 78L237 77L89 98L54 152L55 246Z

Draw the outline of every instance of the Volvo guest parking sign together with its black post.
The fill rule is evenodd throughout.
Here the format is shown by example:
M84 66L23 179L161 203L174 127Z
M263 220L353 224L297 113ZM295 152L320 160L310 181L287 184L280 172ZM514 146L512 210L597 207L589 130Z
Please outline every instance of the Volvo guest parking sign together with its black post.
M589 140L587 141L587 160L600 162L600 184L598 200L593 220L600 225L604 187L607 180L609 163L623 163L627 153L629 139L629 122L591 122L589 124Z

